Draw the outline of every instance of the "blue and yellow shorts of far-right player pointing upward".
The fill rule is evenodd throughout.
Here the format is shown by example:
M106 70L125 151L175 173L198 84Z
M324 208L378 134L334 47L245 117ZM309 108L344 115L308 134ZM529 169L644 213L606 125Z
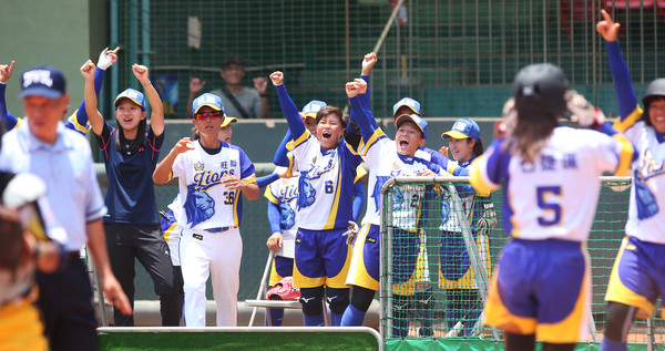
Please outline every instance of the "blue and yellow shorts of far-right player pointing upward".
M640 318L651 317L658 296L665 301L663 257L665 245L625 237L612 268L605 300L638 308Z

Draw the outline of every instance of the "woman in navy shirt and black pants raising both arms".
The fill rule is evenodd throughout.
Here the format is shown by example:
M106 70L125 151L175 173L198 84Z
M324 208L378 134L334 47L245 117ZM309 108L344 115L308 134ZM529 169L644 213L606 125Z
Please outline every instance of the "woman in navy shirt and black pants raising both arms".
M104 122L98 110L94 91L95 65L90 60L81 66L85 78L85 110L90 125L101 146L109 187L104 231L111 268L123 290L134 302L134 258L151 275L160 296L162 324L178 326L180 312L172 308L177 293L168 246L160 228L152 173L164 141L162 101L149 80L147 68L134 64L132 71L145 87L152 107L147 127L142 93L127 89L115 97L117 128ZM115 326L132 327L134 317L114 310Z

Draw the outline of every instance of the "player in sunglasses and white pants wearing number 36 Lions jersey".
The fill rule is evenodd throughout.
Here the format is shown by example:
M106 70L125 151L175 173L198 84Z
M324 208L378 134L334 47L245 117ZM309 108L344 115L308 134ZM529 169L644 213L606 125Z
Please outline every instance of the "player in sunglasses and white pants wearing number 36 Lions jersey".
M237 321L237 293L243 241L241 192L258 198L254 165L239 147L218 140L224 107L219 96L203 94L194 100L193 123L201 138L182 138L157 165L153 179L164 184L178 177L183 210L180 259L185 290L185 323L205 327L205 283L213 281L217 327Z

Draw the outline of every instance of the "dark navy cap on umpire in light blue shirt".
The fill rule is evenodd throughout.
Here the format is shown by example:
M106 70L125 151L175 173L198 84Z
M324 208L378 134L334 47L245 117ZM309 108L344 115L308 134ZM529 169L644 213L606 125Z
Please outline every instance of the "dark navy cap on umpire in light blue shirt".
M59 69L38 65L21 74L21 93L19 97L37 95L58 99L65 94L65 90L66 81Z

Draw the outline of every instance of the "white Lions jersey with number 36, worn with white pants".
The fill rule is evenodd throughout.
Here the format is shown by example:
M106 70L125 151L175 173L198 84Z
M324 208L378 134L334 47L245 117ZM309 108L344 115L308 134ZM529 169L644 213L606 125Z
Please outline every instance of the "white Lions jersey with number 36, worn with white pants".
M198 230L239 226L239 192L222 185L222 177L235 175L255 182L252 161L239 147L224 142L215 155L206 153L198 141L193 144L194 149L175 157L172 168L173 177L178 177L183 208L176 214L178 225Z

